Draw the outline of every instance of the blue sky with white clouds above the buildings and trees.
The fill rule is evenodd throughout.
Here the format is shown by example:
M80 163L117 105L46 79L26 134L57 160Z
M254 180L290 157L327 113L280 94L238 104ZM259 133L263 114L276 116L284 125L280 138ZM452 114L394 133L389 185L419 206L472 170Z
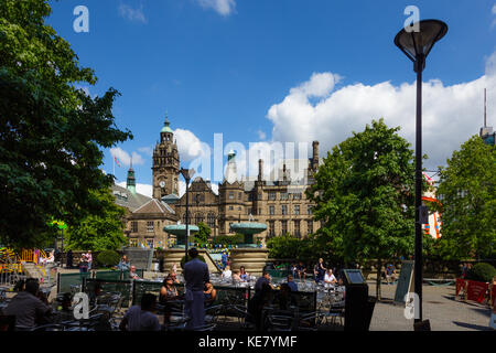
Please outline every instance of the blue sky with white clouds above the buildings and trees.
M73 30L79 4L89 10L89 33ZM121 93L116 122L134 139L119 146L116 174L126 179L122 152L134 153L137 180L150 184L147 150L166 110L188 160L202 153L198 141L213 146L215 132L246 146L317 139L325 151L380 116L413 142L416 76L392 43L411 4L420 19L449 25L423 77L433 169L478 132L483 87L496 125L494 0L64 0L47 22L95 69L91 95ZM107 172L111 161L106 150Z

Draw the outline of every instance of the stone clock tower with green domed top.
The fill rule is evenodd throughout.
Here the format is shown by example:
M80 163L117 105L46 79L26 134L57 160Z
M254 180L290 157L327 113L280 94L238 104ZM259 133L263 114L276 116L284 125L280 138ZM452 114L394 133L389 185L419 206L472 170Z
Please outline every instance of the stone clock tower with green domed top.
M153 199L170 194L179 195L180 159L174 132L165 115L165 122L160 131L160 142L153 150Z

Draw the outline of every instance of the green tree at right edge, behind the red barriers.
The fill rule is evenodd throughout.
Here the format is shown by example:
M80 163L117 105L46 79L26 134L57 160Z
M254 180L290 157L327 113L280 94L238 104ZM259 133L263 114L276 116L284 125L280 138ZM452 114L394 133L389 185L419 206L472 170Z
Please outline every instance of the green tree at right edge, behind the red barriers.
M438 189L444 257L496 254L496 150L473 136L441 168Z

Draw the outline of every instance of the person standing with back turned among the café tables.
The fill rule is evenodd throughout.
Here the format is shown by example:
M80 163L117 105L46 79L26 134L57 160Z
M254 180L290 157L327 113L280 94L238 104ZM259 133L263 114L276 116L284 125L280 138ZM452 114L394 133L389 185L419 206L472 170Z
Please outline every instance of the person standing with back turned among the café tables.
M198 250L191 248L187 255L192 260L184 265L184 280L186 287L185 310L191 320L186 324L186 330L194 330L205 324L205 284L211 280L208 266L202 263Z

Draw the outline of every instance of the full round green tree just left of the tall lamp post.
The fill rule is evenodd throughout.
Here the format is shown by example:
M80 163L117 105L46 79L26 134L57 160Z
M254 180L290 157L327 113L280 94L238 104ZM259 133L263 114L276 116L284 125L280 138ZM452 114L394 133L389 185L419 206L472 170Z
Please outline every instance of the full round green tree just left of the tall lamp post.
M317 237L346 263L384 260L413 248L414 161L410 145L384 120L334 147L308 191L323 221Z

